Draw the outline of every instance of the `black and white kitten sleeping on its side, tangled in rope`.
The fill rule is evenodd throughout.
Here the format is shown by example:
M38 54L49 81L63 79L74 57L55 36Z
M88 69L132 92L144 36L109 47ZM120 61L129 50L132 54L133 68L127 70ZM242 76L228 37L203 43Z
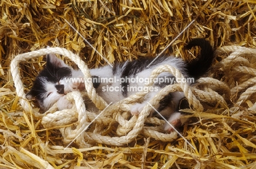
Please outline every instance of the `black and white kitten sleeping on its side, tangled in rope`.
M191 49L193 46L200 46L201 52L192 62L185 62L181 58L172 56L160 56L154 62L152 62L154 58L143 58L117 63L113 68L106 65L91 69L96 92L108 103L118 102L136 92L147 92L143 102L131 106L131 114L137 115L161 88L176 81L172 74L164 72L153 80L154 85L151 88L143 88L150 81L149 76L155 68L160 65L171 65L179 69L185 78L192 77L194 81L206 73L213 62L213 49L207 40L200 38L191 40L186 47ZM47 55L46 67L39 73L26 96L28 99L36 98L43 110L47 110L55 102L60 110L71 108L72 104L66 99L66 94L73 90L84 90L84 83L67 81L67 79L80 77L83 77L80 70L73 70L55 55ZM184 93L173 92L166 95L155 107L176 127L187 121L186 118L182 118L182 112L178 111L179 103L183 98ZM156 112L153 111L151 114L155 116ZM164 130L171 131L172 128L170 125L165 125Z

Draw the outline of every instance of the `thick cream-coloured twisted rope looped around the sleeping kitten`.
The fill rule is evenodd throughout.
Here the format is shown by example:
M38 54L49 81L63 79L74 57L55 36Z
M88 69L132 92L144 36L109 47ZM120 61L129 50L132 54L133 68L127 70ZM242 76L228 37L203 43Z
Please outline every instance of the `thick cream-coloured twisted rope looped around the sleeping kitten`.
M93 88L92 82L90 81L85 81L88 97L99 110L104 110L104 108L107 107L98 118L95 119L97 112L86 111L82 95L79 92L71 92L67 94L67 99L73 103L73 107L69 110L57 110L55 104L43 114L34 111L24 93L24 87L19 72L19 64L21 61L27 61L28 59L50 53L68 57L78 65L78 68L82 71L85 78L90 77L90 71L80 57L71 51L60 47L49 47L47 49L20 54L11 61L10 69L16 88L16 94L19 96L20 104L26 113L32 113L34 116L41 116L42 124L45 128L73 124L72 126L65 126L60 129L65 143L71 142L78 136L75 142L79 144L80 147L88 147L95 142L121 146L135 140L135 138L142 133L147 137L152 137L161 141L173 141L177 138L176 132L164 134L160 132L160 130L144 126L145 123L150 123L156 126L162 126L162 124L164 124L163 120L155 117L148 117L149 112L152 110L152 107L149 105L146 105L138 116L132 116L130 119L127 118L130 114L129 104L134 104L138 102L138 100L143 100L143 96L146 95L146 93L137 93L107 107L107 102L97 95L96 90ZM235 101L235 104L231 110L235 111L236 106L243 104L246 99L256 91L256 88L254 87L256 82L256 70L250 63L251 60L256 60L256 50L241 46L224 46L216 51L217 56L223 55L224 53L229 53L229 56L213 65L211 73L213 74L214 72L221 70L224 73L223 77L225 77L225 80L220 81L213 79L212 77L202 77L193 87L185 82L169 85L161 89L161 91L150 101L150 104L155 106L168 93L181 91L184 92L185 97L188 99L191 107L194 108L194 111L202 112L203 106L201 102L215 105L218 104L220 107L226 108L228 107L227 101L230 101L232 96L234 98L234 95L239 91L242 92L241 94L238 94L240 95L239 98L232 100L233 102ZM245 53L247 53L247 55L245 55ZM170 65L161 65L159 68L155 69L152 72L151 78L157 77L164 71L170 72L176 79L183 78L180 71ZM237 80L232 77L236 74L243 74L243 76L241 79ZM153 82L146 86L149 87L152 85ZM256 107L256 105L254 104L253 107ZM79 135L92 120L95 121L90 130L86 130ZM104 131L112 130L110 125L115 123L118 123L117 129L115 130L116 135L106 135Z

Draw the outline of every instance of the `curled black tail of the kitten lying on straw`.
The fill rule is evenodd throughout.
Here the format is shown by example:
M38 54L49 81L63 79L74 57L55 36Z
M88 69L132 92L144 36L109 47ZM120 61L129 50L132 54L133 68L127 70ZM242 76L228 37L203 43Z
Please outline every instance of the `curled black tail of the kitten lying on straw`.
M187 63L187 69L190 76L199 79L211 67L213 62L213 48L209 41L203 38L195 38L189 42L185 49L191 49L193 46L200 46L200 56Z

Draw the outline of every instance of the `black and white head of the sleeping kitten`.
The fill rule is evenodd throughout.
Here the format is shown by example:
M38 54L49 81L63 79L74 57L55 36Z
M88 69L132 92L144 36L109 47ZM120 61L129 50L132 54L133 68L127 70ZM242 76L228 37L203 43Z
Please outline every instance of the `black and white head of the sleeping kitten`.
M46 67L39 73L34 84L26 94L27 99L35 98L45 111L68 92L78 89L78 85L66 79L80 76L79 71L68 67L61 59L50 54L46 56Z

